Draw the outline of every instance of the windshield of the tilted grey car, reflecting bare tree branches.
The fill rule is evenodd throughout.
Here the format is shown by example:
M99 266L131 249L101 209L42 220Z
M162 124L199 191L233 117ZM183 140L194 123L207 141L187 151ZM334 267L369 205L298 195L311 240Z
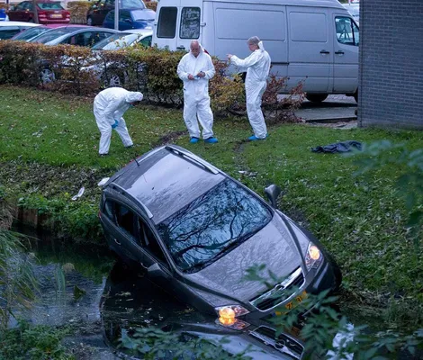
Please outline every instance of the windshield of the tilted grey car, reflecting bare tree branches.
M176 266L193 273L264 228L266 205L230 179L157 225Z

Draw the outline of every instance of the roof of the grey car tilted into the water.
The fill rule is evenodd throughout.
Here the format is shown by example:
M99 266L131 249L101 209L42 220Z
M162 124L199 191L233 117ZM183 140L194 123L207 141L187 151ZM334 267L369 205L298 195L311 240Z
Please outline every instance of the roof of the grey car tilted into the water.
M220 170L190 151L166 146L125 166L106 187L118 185L134 201L147 207L158 224L225 178Z

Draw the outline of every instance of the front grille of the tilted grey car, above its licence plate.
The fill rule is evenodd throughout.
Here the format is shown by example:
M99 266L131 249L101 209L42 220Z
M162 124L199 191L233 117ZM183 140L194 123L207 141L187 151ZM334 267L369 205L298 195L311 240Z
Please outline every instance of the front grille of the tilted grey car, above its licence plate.
M284 302L293 294L293 290L301 288L302 284L304 284L304 275L302 275L302 268L299 267L282 283L276 284L273 289L261 294L250 303L258 310L266 311Z

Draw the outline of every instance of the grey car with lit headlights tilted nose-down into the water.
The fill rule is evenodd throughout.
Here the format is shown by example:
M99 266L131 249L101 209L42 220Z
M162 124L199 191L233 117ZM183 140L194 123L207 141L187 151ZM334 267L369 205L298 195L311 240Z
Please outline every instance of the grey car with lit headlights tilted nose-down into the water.
M166 146L105 182L99 217L124 261L221 325L242 327L341 281L319 241L275 209L277 187L266 193L273 206L201 157ZM269 280L270 288L247 280L247 269L262 264L284 280Z

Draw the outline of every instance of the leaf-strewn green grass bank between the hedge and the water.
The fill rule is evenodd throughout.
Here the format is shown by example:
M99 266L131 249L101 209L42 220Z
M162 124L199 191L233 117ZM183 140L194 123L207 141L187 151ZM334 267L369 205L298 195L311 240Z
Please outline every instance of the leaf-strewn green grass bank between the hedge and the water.
M0 182L16 197L40 194L66 203L85 184L81 204L95 208L100 194L96 182L103 175L185 130L181 111L131 109L125 119L135 147L123 148L113 133L111 156L102 158L97 156L100 135L92 99L10 86L0 87L0 94L0 161L7 169L0 169ZM220 140L215 145L189 144L186 132L172 139L257 193L263 195L267 184L279 184L284 190L281 210L320 238L341 266L348 293L360 302L385 304L396 297L422 305L422 245L413 246L405 227L409 214L394 186L404 168L384 166L354 176L355 157L315 154L311 148L349 139L389 139L414 149L422 147L423 132L291 124L269 128L266 141L247 143L247 119L216 119L214 131Z

